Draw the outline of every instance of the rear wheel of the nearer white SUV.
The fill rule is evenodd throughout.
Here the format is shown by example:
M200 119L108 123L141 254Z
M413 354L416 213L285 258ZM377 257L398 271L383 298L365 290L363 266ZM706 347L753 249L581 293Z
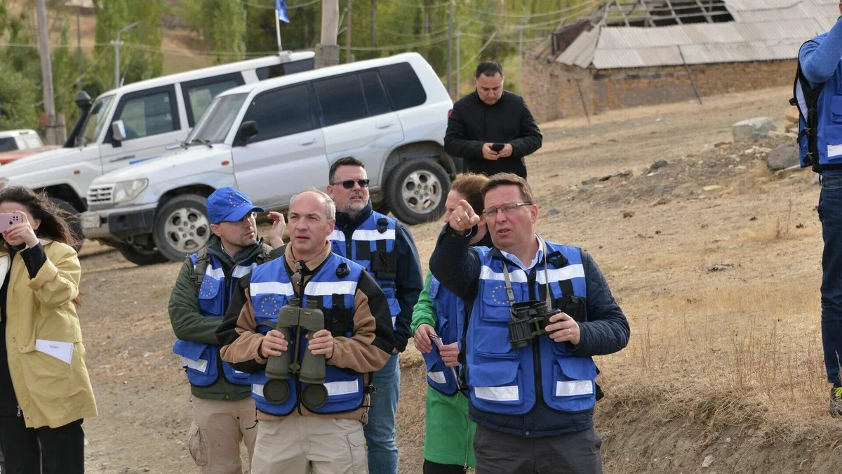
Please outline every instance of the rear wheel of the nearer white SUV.
M439 218L445 212L450 178L431 159L408 159L386 180L386 203L392 214L410 225Z

